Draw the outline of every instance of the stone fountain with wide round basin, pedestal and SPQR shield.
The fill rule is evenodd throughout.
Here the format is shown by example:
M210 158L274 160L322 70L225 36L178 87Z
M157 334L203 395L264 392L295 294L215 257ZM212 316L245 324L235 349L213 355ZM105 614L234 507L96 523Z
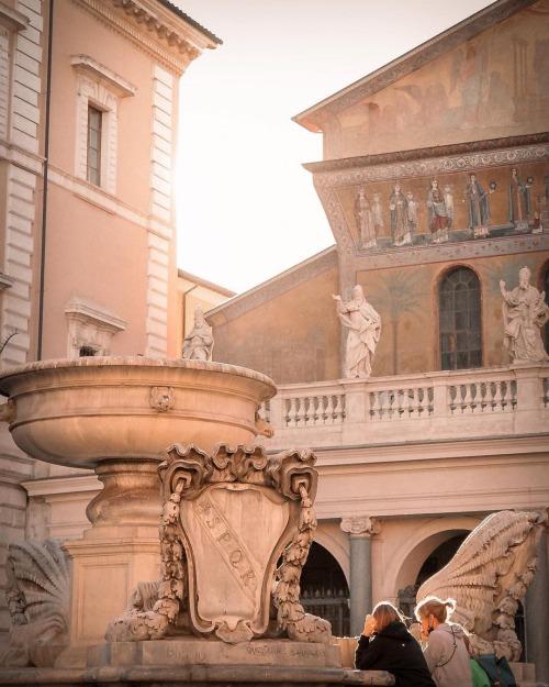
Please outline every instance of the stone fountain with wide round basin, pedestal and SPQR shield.
M4 372L0 392L22 451L93 468L103 483L82 539L13 553L20 627L1 684L393 684L341 668L329 624L300 605L317 472L312 452L268 456L254 445L271 432L258 415L276 394L268 377L88 357ZM31 559L57 570L61 581L43 585L51 597L63 594L68 563L66 619L59 602L55 623L51 610L32 622Z

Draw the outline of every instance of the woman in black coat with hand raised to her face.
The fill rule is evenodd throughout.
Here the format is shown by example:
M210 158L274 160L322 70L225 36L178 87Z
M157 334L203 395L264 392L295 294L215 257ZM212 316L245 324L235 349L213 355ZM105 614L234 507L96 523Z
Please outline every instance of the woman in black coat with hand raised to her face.
M388 671L395 687L436 687L419 643L410 634L396 608L378 603L366 617L358 639L355 667L359 671Z

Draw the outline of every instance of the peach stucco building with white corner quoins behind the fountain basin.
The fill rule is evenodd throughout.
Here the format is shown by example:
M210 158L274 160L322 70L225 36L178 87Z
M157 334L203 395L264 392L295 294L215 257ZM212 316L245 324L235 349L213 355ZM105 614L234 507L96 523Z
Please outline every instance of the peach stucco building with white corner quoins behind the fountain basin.
M1 370L178 356L184 293L229 295L176 263L179 80L220 43L168 0L0 0ZM0 423L0 650L8 545L81 536L100 487Z

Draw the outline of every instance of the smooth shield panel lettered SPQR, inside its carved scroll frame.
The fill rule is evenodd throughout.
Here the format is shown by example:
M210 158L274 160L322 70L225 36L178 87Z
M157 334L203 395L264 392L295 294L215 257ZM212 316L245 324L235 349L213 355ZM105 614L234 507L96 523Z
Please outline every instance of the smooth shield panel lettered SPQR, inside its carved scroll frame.
M276 564L295 530L298 503L255 484L210 484L181 501L180 519L192 627L229 643L265 633Z

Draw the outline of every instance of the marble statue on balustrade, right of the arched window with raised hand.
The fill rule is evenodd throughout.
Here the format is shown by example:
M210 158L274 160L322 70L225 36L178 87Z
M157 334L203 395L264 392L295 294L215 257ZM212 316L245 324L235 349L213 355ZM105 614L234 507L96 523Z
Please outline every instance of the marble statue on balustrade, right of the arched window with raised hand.
M549 320L549 307L545 292L530 285L531 272L523 267L518 273L518 286L505 290L505 281L500 281L503 296L504 344L513 362L549 361L541 340L541 329Z

